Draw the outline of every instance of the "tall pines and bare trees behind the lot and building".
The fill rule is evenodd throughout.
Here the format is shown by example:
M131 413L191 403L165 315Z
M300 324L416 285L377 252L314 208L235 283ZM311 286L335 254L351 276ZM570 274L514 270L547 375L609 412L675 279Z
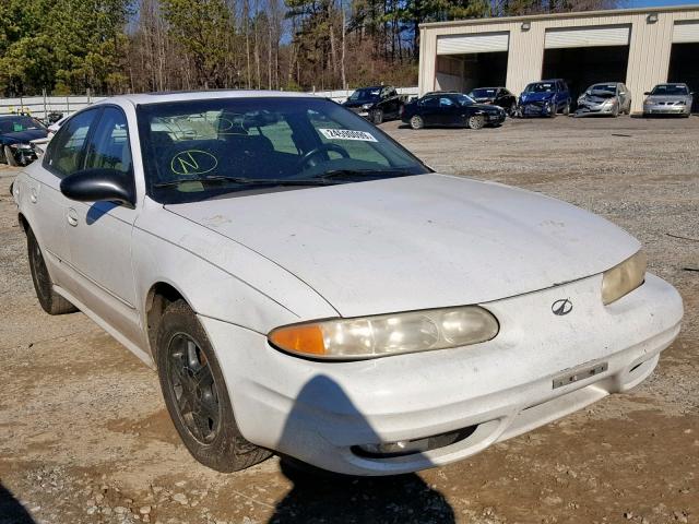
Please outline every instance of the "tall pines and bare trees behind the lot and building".
M618 0L2 0L0 94L417 83L423 22Z

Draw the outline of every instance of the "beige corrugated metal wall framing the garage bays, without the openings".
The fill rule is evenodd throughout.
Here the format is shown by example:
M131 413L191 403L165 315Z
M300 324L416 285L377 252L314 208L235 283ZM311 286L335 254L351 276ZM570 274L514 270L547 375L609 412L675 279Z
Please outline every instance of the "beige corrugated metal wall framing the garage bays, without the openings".
M656 22L648 21L650 13L657 15ZM638 111L643 102L643 92L650 91L656 83L667 81L675 23L688 21L699 22L698 7L425 24L420 28L419 92L422 94L437 88L435 82L438 36L509 33L506 86L519 94L529 82L541 80L546 29L625 25L630 26L629 62L626 79L618 80L625 81L631 90L632 109ZM523 24L529 24L529 28Z

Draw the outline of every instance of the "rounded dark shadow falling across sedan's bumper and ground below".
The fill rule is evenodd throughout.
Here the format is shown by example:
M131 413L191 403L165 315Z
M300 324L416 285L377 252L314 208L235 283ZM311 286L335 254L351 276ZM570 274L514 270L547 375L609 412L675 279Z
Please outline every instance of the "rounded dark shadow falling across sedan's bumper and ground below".
M322 450L308 449L312 448L308 442L318 438L316 431L333 441L381 441L340 384L325 376L313 377L296 397L282 436L282 449L300 449L309 462L322 462L325 457L317 454ZM420 453L411 455L414 460L420 457ZM447 499L416 474L356 477L323 472L289 458L282 460L281 465L294 486L276 504L270 524L455 522Z

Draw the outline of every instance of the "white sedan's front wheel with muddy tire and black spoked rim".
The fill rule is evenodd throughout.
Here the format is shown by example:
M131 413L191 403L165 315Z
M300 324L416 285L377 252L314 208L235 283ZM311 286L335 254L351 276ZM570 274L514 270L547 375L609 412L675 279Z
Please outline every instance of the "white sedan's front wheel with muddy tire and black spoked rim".
M215 352L183 300L173 302L163 313L155 348L165 405L197 461L230 473L272 454L240 433Z

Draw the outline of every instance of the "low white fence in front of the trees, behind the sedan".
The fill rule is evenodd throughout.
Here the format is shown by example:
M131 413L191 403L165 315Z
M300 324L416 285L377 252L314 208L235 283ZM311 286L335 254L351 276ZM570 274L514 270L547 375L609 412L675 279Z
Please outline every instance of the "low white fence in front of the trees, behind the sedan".
M401 95L417 96L417 87L398 87ZM344 102L354 90L316 91L309 94ZM0 115L17 112L29 114L38 119L45 119L49 112L71 115L85 106L103 100L104 96L31 96L21 98L0 98Z

